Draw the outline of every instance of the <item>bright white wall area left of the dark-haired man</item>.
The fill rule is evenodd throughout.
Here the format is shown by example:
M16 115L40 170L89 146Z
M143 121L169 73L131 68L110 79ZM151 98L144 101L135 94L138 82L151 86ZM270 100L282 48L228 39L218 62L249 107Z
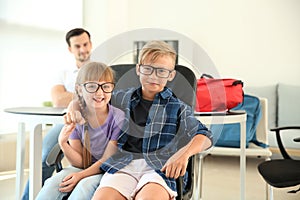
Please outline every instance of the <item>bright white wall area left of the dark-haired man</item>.
M81 11L81 0L0 1L0 134L17 130L4 108L51 100L52 77L73 64L65 34L82 26Z

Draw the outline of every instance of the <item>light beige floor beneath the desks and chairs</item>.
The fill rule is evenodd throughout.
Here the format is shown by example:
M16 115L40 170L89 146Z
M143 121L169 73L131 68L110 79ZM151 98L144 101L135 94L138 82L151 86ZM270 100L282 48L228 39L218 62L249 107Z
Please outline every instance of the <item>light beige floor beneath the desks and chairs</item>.
M257 165L262 161L262 159L247 158L247 200L266 199L266 185L257 172ZM203 200L240 199L239 158L207 156L203 173ZM27 172L25 176L27 178ZM274 189L274 200L299 200L300 192L287 193L291 189L294 188ZM0 176L0 194L1 200L15 200L15 175L13 173Z

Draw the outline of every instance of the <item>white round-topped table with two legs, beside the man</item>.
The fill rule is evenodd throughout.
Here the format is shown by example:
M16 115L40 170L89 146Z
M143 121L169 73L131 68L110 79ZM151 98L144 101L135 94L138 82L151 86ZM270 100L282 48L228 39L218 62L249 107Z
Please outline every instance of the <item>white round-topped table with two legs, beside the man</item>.
M30 131L29 148L29 199L35 199L42 186L42 124L62 124L64 108L16 107L4 111L15 114L19 122L17 134L16 199L23 189L25 157L25 125Z

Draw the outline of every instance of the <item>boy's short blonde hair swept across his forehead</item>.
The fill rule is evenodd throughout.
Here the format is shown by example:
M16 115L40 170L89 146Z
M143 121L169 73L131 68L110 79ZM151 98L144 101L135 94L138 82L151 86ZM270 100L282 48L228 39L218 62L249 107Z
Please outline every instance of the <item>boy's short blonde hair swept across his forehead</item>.
M151 62L154 62L161 56L170 56L174 60L175 65L176 51L164 41L153 40L147 42L140 52L139 64L143 64L145 59L149 56L151 56Z

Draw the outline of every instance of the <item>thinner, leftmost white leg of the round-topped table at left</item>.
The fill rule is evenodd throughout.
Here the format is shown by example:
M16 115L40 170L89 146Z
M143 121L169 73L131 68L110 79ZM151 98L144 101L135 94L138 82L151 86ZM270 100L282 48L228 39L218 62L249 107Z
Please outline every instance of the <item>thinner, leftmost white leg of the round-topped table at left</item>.
M17 135L17 152L16 152L16 199L21 199L23 182L24 182L24 160L25 160L25 124L20 122L18 125Z

